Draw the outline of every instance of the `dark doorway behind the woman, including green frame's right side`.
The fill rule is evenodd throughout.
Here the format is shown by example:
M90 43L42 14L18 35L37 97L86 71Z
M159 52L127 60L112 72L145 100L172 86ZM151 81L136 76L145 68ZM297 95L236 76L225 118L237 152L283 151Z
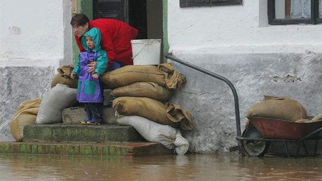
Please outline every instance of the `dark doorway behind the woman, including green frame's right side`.
M113 18L139 30L136 39L161 39L163 63L162 0L93 0L93 19Z

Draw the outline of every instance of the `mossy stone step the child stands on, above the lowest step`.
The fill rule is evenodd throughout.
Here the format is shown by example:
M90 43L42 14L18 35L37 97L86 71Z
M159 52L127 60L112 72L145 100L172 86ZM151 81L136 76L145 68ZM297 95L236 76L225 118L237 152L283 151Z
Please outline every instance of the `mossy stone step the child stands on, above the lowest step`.
M24 126L26 142L108 143L145 139L132 126L83 124L31 124Z

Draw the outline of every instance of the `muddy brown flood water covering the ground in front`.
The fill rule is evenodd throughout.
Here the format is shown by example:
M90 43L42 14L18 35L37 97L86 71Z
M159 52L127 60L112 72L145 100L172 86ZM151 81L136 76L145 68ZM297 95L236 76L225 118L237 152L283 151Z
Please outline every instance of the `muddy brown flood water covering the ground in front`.
M322 159L232 155L0 155L0 180L321 180Z

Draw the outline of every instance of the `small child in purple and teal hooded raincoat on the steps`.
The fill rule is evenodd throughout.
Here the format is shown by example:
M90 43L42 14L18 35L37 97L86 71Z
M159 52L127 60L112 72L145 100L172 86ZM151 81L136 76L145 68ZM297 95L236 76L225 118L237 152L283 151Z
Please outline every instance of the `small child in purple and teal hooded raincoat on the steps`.
M83 102L87 117L82 124L100 124L103 107L103 83L99 79L107 67L108 58L101 49L101 33L99 29L92 28L82 38L82 46L86 50L78 55L78 61L71 74L71 78L78 77L77 100ZM91 61L96 61L97 67L93 73L87 70Z

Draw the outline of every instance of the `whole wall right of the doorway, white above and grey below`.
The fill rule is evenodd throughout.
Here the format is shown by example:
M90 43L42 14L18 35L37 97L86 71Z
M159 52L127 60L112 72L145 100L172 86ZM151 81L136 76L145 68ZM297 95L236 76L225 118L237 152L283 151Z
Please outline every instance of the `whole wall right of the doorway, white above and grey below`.
M309 116L322 113L321 25L269 26L267 1L246 0L243 6L194 8L168 1L167 26L169 52L234 84L241 131L247 109L264 95L297 100ZM190 151L228 152L237 145L232 90L223 81L176 64L188 82L171 101L193 116L195 128L182 131ZM284 147L281 151L286 153Z

